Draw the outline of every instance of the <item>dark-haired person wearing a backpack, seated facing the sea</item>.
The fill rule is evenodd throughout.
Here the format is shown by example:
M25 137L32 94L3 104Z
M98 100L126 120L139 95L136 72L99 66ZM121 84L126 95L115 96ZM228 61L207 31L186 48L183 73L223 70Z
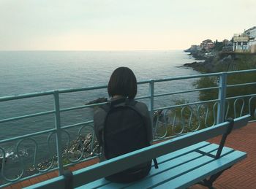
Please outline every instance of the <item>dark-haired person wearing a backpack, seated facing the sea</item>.
M108 150L106 149L109 149L112 151L113 149L122 150L123 148L132 149L132 147L129 147L129 145L132 145L132 142L135 142L135 140L137 139L135 143L137 144L141 143L140 147L137 147L137 148L133 147L133 150L137 150L141 147L146 147L150 145L153 139L151 119L149 116L148 108L146 104L143 104L141 102L134 100L137 94L137 80L136 80L135 74L132 72L131 69L127 67L119 67L113 72L108 82L108 94L110 96L110 104L107 104L105 107L104 106L99 107L94 112L94 131L97 136L97 140L99 141L99 143L102 143L102 141L105 142L105 144L102 144L103 149L102 149L102 156L100 157L100 161L104 161L106 159L117 156L117 155L112 155L112 156L108 155L109 153L108 153ZM127 109L127 106L130 109L133 109L133 112L135 114L134 117L129 117L130 116L129 114L132 113L132 110L129 110L129 108ZM110 111L112 115L114 115L115 117L110 118L111 117ZM129 113L127 114L124 113L126 111ZM138 131L132 130L133 128L137 129L140 127L140 124L138 126L132 126L132 124L133 125L138 124L138 123L132 122L136 119L136 116L142 117L141 119L143 120L142 121L143 126L141 126L141 130L140 130L142 132L140 132L139 130ZM108 119L106 117L108 117ZM127 126L123 126L122 124L129 125L129 128ZM109 125L116 125L117 126L116 128L115 127L111 128L115 130L120 129L119 127L123 127L123 128L127 127L130 130L129 131L125 130L127 131L127 133L124 134L124 129L121 128L123 131L122 134L124 134L124 136L120 136L119 138L118 136L107 138L106 137L106 135L108 136L108 134L106 134L107 125L108 127L111 127ZM130 133L131 131L134 133L131 134ZM104 136L102 135L102 133L104 133ZM102 138L102 137L105 137L105 138ZM125 137L129 137L129 138L124 139ZM112 143L119 145L119 147L106 148L105 147L106 144L108 144L108 142L112 139L113 140L116 139L115 142L112 142ZM147 141L146 145L138 141L138 140L142 141L144 139ZM121 140L129 141L129 143L127 143L126 141L122 142ZM129 150L126 153L133 150ZM113 152L113 153L116 153L116 152ZM124 152L119 153L118 155L122 155L122 154L124 154ZM131 169L121 171L120 173L113 174L110 177L106 177L106 179L113 182L133 182L135 180L140 180L141 178L146 177L150 169L151 169L151 161L143 163L139 166L135 166Z

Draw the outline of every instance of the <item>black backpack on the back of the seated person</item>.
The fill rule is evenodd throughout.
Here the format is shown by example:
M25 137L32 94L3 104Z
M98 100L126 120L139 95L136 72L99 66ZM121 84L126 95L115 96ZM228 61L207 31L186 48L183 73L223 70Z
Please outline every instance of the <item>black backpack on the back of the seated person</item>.
M107 114L104 128L99 134L101 136L99 145L102 147L105 158L115 158L150 146L146 120L135 107L136 103L135 100L118 99L102 106ZM151 166L151 161L132 169L140 169L142 166ZM154 159L154 166L158 168L156 159Z

